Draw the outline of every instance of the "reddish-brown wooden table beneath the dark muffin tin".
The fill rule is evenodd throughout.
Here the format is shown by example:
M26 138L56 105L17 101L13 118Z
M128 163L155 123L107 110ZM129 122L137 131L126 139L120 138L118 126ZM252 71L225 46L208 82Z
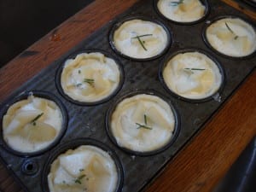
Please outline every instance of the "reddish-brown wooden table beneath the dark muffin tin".
M96 0L32 44L0 69L0 101L3 102L13 90L136 2ZM231 0L224 2L241 9ZM241 11L256 20L256 13L246 9ZM205 128L176 155L146 191L211 191L256 135L255 87L254 70L236 94L224 103ZM0 165L0 189L4 192L23 191L3 165Z

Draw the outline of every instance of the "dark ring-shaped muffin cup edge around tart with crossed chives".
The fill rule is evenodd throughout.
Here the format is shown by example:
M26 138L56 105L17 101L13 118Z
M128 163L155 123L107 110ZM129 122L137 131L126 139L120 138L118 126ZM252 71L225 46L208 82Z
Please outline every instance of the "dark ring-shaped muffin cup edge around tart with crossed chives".
M166 35L167 35L167 44L166 44L166 48L163 49L160 54L158 55L154 55L154 56L151 56L151 57L148 57L148 58L136 58L136 57L131 57L129 55L125 55L123 54L122 52L119 51L119 49L117 49L114 45L114 39L113 39L113 35L114 35L114 32L119 28L119 26L121 26L123 23L125 23L126 21L129 21L129 20L145 20L145 21L150 21L150 22L154 22L160 26L163 27L163 29L166 31ZM132 16L132 17L128 17L128 18L125 18L124 20L120 20L118 22L116 22L112 27L111 27L111 30L109 32L109 35L108 35L108 38L109 38L109 44L111 46L111 48L119 55L121 55L122 57L125 57L126 59L129 59L129 60L132 60L132 61L151 61L151 60L154 60L158 57L160 57L161 55L164 55L167 51L167 49L169 49L169 47L172 45L172 32L170 32L170 30L162 23L160 22L160 20L154 20L152 18L148 18L148 17L145 17L145 16Z

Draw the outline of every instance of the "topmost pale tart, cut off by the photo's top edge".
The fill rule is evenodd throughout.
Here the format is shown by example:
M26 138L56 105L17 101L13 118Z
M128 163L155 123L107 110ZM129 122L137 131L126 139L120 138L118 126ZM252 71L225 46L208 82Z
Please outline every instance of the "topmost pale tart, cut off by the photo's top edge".
M157 7L167 19L177 22L200 20L206 10L200 0L160 0Z

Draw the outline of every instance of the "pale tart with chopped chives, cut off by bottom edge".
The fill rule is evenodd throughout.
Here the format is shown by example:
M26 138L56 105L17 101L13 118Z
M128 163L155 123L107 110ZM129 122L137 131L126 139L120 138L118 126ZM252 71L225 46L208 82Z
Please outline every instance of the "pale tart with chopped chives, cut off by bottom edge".
M118 173L113 159L101 148L82 145L59 155L50 167L50 192L113 192Z

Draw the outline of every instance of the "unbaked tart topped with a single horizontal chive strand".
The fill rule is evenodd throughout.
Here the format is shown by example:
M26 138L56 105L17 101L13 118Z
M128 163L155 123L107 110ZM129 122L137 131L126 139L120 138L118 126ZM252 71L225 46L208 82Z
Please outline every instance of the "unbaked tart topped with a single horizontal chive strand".
M218 91L222 75L207 55L187 52L172 57L163 70L170 90L189 99L203 99Z

